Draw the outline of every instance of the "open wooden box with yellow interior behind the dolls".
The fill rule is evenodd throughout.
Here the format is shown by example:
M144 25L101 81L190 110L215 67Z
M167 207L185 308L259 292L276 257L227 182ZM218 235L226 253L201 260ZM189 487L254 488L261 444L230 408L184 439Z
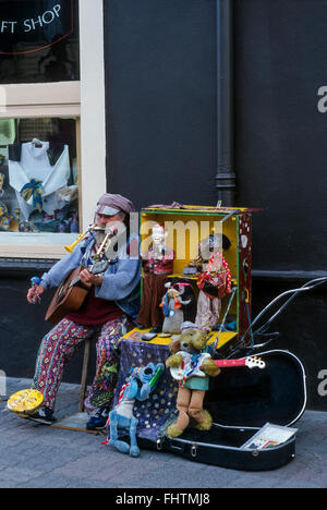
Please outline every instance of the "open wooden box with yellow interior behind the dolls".
M252 212L249 208L181 206L180 208L148 207L141 211L142 251L150 246L150 229L156 222L165 224L168 236L167 245L175 252L173 274L168 279L183 278L192 283L195 292L197 276L185 275L184 268L196 258L198 243L210 234L223 234L230 241L230 247L222 255L229 265L232 286L235 288L233 299L222 299L219 321L226 316L225 326L233 324L233 330L213 331L209 343L217 340L221 353L228 352L246 332L251 323L251 267L252 267ZM144 279L144 271L142 280ZM124 338L142 341L144 335L152 330L135 328ZM245 339L244 339L245 340ZM168 344L170 338L156 336L149 343Z

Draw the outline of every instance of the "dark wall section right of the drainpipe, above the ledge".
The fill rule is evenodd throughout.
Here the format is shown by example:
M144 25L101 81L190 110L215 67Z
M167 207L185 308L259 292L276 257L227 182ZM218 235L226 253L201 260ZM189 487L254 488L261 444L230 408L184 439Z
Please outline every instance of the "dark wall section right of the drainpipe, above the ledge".
M235 0L238 191L264 208L257 269L326 268L326 26L325 0Z

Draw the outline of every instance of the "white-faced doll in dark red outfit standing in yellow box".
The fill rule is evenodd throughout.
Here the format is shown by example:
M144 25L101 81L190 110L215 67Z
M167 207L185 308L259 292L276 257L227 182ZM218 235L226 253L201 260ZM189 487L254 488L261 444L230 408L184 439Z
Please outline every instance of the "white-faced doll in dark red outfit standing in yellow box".
M136 323L143 328L153 327L161 331L164 316L159 307L166 292L167 276L173 272L174 251L166 245L167 232L160 223L155 223L152 233L152 247L142 254L144 260L143 298Z

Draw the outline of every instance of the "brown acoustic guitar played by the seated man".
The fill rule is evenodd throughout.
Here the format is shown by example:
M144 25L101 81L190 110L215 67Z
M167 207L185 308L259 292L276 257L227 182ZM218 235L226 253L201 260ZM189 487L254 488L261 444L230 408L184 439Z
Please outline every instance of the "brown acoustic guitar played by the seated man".
M99 275L106 271L108 265L109 263L106 260L97 263L87 269L93 275ZM81 281L80 274L83 269L85 268L77 267L74 269L66 280L58 287L48 307L46 320L52 324L58 324L68 314L77 312L82 307L92 288L92 284L85 284Z

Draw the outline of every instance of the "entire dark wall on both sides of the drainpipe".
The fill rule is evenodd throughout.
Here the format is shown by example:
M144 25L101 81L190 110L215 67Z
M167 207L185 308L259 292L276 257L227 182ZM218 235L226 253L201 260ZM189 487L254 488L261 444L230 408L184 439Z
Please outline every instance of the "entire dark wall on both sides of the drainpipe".
M218 0L217 0L218 1ZM105 0L108 187L137 207L215 205L216 0ZM327 0L234 0L237 205L263 208L253 232L254 316L325 272ZM302 360L308 405L327 369L326 290L276 324Z

